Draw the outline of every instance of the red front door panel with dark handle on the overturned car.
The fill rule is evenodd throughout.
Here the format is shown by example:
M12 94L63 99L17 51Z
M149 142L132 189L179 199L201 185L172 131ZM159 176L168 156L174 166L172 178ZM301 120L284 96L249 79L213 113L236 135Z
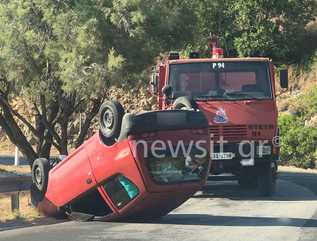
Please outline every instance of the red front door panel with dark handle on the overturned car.
M51 171L51 176L57 206L67 205L98 186L86 148L67 156Z

